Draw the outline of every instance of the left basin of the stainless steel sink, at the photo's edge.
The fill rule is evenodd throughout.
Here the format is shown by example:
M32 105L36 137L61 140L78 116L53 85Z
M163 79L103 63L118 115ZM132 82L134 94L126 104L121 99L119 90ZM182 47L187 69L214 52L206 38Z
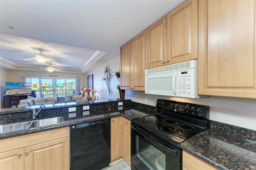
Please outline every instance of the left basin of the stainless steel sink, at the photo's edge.
M30 122L20 122L20 123L0 125L0 133L23 130L23 129L26 129L28 125L30 125Z

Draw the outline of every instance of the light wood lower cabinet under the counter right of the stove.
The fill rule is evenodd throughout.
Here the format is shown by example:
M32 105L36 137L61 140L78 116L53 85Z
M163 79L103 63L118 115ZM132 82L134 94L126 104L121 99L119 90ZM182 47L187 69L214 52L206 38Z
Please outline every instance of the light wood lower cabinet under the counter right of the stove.
M182 150L182 170L217 170L217 168Z

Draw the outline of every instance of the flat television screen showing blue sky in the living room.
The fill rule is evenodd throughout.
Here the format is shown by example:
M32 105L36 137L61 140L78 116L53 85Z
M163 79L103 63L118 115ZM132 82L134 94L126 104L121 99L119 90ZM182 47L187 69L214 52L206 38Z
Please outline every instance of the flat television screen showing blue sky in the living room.
M32 93L32 83L5 83L6 96Z

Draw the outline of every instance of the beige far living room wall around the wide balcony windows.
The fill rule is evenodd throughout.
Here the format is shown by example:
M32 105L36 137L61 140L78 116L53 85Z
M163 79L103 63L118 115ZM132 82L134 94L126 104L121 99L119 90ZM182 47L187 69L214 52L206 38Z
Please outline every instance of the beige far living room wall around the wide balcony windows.
M6 82L24 82L23 76L31 77L49 77L49 75L58 75L58 77L66 78L80 78L80 86L87 85L86 74L78 73L62 73L62 72L48 72L48 71L24 71L24 70L9 70L0 68L0 94L1 94L1 108L3 108L3 96L5 96L5 83ZM52 77L49 77L52 78Z

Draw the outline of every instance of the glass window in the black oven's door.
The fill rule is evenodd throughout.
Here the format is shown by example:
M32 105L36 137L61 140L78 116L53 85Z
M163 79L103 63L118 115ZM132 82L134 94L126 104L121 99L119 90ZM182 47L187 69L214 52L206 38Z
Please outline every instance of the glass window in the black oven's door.
M165 154L138 135L136 135L136 155L151 170L166 169Z

